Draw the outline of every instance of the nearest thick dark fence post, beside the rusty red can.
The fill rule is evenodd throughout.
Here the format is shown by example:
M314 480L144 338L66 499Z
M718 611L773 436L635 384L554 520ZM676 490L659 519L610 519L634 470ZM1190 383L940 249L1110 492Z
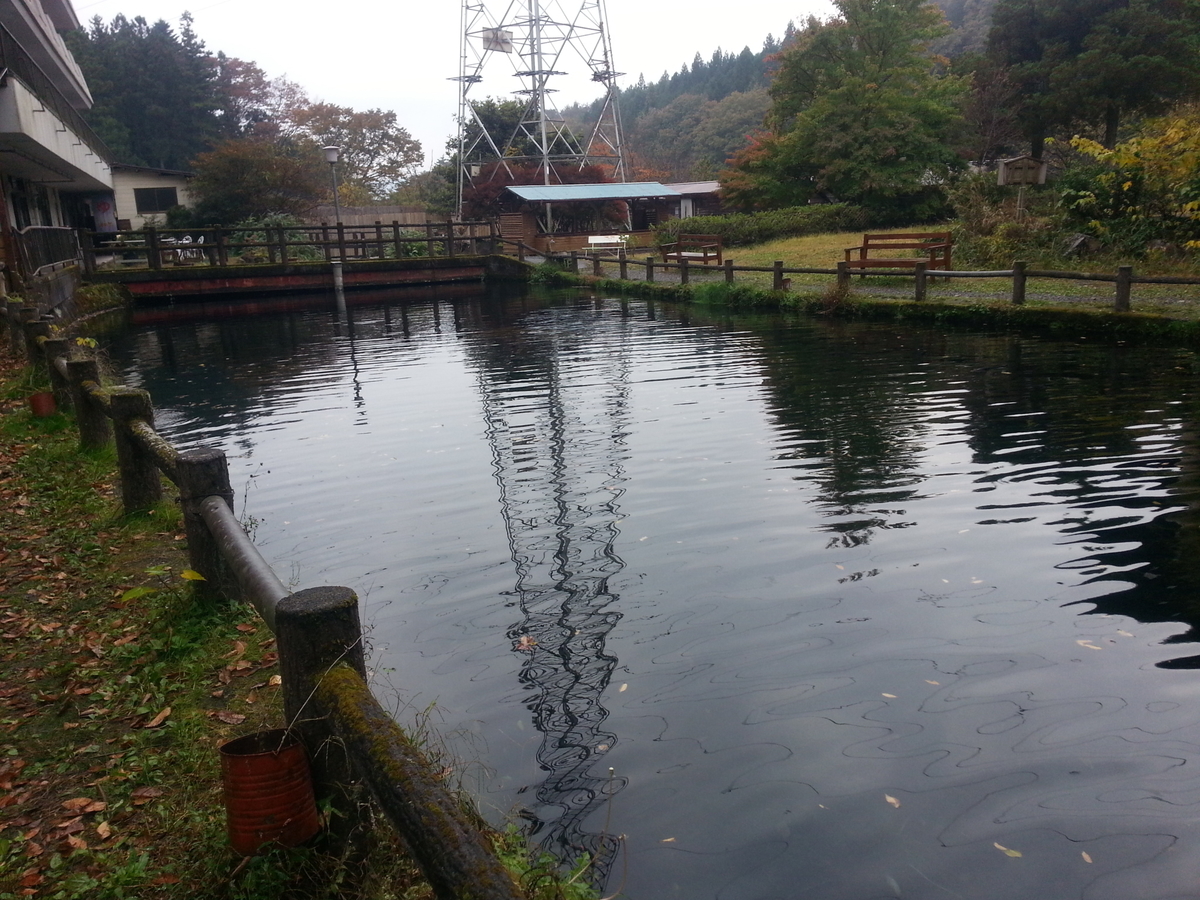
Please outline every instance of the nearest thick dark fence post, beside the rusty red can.
M283 678L283 715L299 732L312 762L318 799L330 798L353 827L354 781L350 761L312 696L322 677L346 662L366 680L359 598L349 588L320 587L298 590L275 607L275 640Z

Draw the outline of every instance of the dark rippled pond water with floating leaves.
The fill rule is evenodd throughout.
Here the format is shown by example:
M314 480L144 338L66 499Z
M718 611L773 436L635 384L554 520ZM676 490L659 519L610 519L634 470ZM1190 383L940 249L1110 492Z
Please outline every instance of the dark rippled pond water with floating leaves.
M113 349L163 430L607 890L1200 895L1193 353L578 295L168 312Z

